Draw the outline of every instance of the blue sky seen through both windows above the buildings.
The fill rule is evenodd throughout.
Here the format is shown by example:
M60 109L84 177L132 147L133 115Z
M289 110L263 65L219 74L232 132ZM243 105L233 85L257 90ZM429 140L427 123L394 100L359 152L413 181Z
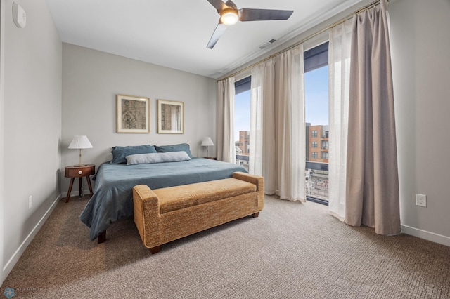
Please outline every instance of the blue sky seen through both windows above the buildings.
M328 66L304 74L304 96L306 122L328 125ZM250 90L235 98L234 139L239 140L239 131L250 131Z

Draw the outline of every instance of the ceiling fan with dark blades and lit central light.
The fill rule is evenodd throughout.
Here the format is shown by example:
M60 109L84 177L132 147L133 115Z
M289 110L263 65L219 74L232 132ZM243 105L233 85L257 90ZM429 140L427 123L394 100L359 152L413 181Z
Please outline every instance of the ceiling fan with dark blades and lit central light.
M226 3L222 0L207 0L217 9L217 13L220 15L219 24L217 25L214 33L211 36L210 42L207 44L207 48L212 49L214 45L219 41L220 36L225 32L227 25L234 25L238 21L266 21L266 20L288 20L290 15L294 11L280 11L276 9L253 9L253 8L240 8L228 0Z

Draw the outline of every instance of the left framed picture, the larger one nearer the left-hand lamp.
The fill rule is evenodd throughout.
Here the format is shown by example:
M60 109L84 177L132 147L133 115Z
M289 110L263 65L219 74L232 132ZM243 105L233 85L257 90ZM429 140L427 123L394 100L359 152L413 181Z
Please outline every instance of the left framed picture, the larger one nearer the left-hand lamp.
M117 95L117 133L150 133L150 98Z

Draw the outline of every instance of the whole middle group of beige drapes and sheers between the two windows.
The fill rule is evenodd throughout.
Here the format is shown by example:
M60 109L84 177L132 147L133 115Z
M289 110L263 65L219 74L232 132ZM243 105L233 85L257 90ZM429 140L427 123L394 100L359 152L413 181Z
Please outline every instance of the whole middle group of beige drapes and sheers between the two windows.
M266 194L305 201L303 46L252 68L250 173Z

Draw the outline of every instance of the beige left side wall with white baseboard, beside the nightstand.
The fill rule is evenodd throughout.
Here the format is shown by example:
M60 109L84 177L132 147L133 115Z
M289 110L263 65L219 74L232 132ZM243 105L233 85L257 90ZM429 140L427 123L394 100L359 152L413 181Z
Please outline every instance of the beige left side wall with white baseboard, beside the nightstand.
M62 45L44 0L15 0L27 13L23 29L13 1L1 2L4 279L60 196Z

